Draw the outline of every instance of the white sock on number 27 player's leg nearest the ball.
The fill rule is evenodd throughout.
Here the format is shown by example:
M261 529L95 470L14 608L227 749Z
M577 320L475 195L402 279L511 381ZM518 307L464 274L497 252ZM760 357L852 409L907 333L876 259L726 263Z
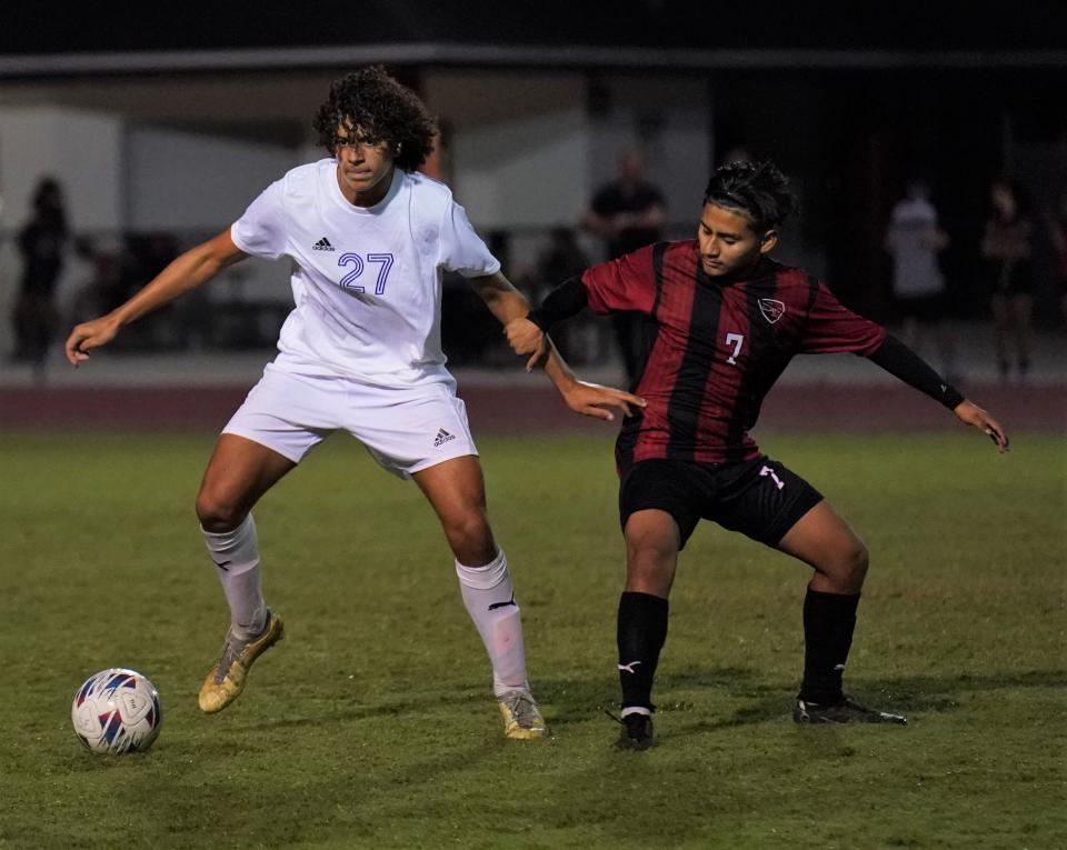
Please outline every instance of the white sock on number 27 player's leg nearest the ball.
M205 531L202 527L200 531L230 606L233 634L255 638L267 624L267 603L260 587L259 547L252 514L232 531Z

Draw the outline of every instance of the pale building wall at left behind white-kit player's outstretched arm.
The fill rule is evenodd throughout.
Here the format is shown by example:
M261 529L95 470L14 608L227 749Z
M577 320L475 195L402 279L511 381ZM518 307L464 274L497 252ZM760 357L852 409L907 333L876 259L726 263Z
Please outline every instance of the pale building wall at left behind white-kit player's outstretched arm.
M62 184L74 233L167 230L185 242L230 224L296 164L297 152L280 146L128 128L121 116L67 108L0 108L0 232L7 237L0 241L0 354L11 347L8 317L21 274L13 236L42 174ZM91 273L69 248L57 292L61 309ZM288 300L288 263L249 260L229 270L209 294Z

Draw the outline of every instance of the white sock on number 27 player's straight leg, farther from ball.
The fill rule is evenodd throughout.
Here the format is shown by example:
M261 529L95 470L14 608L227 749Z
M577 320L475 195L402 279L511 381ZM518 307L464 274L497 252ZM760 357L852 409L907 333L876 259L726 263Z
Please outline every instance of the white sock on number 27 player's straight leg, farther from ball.
M493 693L502 697L508 691L529 690L522 620L503 550L485 567L466 567L456 561L456 574L463 604L492 663Z

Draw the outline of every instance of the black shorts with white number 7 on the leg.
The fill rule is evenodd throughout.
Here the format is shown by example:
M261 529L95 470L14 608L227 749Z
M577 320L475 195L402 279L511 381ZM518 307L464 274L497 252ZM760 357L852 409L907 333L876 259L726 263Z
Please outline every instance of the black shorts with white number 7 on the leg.
M734 463L642 460L622 473L619 521L625 531L631 513L656 508L678 523L679 550L701 519L777 547L820 501L818 490L766 454Z

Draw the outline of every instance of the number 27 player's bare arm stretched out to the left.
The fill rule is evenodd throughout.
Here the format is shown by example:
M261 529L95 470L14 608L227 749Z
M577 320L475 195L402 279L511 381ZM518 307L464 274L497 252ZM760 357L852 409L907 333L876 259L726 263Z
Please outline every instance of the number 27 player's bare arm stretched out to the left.
M67 359L72 366L89 359L89 352L108 344L119 330L197 287L207 283L227 266L247 257L227 229L213 239L191 248L174 259L129 301L107 316L82 322L67 338Z

